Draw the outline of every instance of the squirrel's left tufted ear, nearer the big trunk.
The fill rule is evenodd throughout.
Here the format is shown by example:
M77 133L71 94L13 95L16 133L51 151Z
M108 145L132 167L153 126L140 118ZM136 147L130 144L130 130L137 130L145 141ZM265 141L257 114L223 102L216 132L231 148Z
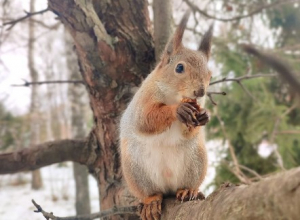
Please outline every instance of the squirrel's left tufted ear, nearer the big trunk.
M167 55L175 54L178 51L178 49L181 47L181 45L182 45L181 41L182 41L184 29L185 29L187 21L189 19L190 13L191 13L190 10L188 10L182 17L182 19L175 31L175 34L173 35L171 40L166 45L165 54L167 54Z

